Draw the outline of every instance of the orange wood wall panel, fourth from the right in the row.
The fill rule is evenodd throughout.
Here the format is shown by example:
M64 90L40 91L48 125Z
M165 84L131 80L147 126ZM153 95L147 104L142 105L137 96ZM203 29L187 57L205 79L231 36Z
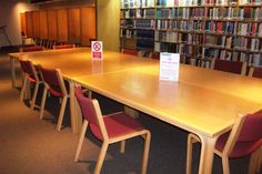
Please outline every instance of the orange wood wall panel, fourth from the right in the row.
M48 10L48 39L58 39L58 18L56 10Z

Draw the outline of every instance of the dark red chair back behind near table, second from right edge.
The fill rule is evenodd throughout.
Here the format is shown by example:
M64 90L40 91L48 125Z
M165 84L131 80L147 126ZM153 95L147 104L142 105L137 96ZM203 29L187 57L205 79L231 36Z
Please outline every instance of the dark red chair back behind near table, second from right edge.
M233 62L215 59L214 70L241 74L243 62Z

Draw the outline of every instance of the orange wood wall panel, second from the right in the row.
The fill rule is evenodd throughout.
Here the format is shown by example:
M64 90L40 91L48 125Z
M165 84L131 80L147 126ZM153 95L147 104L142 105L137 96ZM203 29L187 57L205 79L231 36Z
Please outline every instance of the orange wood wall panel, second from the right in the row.
M80 43L80 9L68 10L68 37L70 43Z

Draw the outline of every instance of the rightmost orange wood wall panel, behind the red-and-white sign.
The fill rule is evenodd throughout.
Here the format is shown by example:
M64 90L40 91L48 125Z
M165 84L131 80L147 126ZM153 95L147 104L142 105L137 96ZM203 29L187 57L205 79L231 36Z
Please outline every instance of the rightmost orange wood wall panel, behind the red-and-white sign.
M95 8L81 8L81 43L90 45L90 39L97 38Z

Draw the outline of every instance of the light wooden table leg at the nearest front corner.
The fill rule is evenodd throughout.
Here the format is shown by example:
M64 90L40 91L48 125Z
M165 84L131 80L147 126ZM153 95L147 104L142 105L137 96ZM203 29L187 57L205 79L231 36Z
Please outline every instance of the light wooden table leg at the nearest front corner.
M216 137L208 137L203 135L199 135L199 137L201 139L202 144L199 174L211 174Z

